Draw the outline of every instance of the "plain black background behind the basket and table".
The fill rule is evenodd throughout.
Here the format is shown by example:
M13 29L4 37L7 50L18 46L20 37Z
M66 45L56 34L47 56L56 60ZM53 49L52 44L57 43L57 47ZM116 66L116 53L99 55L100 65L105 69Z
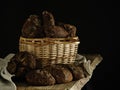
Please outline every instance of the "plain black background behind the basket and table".
M79 1L79 0L78 0ZM56 21L73 24L80 38L79 53L99 53L103 61L95 69L83 90L110 90L117 64L113 63L112 1L29 0L3 1L0 8L0 57L18 51L22 25L31 14L43 10L53 13ZM116 70L117 71L117 70Z

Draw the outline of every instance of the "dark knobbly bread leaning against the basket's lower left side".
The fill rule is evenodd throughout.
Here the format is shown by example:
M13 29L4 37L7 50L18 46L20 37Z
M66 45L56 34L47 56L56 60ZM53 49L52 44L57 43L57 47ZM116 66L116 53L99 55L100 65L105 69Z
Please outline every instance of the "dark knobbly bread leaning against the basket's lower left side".
M7 70L16 77L23 77L26 72L36 68L36 57L29 52L23 51L15 54L8 62Z

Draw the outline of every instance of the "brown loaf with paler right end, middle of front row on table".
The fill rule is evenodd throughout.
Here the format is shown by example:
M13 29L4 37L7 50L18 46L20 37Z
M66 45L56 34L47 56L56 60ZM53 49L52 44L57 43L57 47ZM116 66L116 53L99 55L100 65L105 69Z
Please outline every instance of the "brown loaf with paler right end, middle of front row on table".
M62 65L51 65L44 67L56 80L56 83L67 83L73 80L72 73Z

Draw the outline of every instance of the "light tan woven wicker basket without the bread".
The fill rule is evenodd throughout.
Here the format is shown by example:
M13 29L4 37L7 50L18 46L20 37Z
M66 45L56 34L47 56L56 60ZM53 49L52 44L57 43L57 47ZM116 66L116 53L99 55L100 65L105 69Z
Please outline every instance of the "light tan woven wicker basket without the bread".
M30 52L42 65L74 63L80 41L70 38L24 38L19 39L19 51Z

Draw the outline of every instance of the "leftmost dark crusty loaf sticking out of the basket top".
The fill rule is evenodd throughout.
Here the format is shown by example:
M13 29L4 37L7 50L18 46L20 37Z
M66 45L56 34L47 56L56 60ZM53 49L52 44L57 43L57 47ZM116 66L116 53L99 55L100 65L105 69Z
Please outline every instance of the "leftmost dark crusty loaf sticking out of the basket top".
M45 37L41 27L39 16L30 15L22 27L22 36L25 38Z

